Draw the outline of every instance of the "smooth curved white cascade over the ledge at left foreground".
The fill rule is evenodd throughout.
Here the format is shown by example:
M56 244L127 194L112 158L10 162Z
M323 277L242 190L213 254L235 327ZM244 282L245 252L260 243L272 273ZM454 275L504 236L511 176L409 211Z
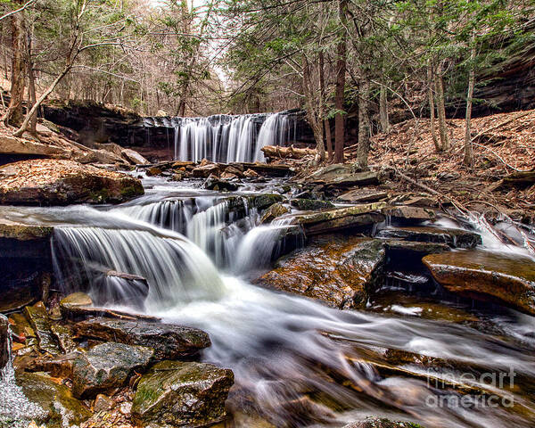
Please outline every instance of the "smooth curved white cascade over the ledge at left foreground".
M158 235L152 230L58 227L53 235L53 259L55 274L66 292L78 291L87 283L89 293L101 292L95 273L112 270L147 280L148 308L218 299L224 293L210 259L180 235Z

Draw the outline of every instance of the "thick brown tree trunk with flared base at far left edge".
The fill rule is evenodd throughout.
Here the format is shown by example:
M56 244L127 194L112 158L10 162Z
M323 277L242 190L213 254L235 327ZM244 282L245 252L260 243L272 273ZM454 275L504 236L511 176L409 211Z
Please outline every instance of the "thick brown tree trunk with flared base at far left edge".
M24 55L26 52L26 33L24 31L24 13L12 15L12 86L11 100L5 111L4 123L19 126L24 117L22 102L24 101L24 86L26 80L26 67Z

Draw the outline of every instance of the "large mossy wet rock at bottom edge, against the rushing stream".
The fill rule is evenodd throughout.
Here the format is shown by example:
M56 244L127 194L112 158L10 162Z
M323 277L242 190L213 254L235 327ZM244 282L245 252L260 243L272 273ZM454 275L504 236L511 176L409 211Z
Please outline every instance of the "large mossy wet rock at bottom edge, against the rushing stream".
M226 417L231 370L195 362L163 361L137 385L132 416L148 428L202 427Z

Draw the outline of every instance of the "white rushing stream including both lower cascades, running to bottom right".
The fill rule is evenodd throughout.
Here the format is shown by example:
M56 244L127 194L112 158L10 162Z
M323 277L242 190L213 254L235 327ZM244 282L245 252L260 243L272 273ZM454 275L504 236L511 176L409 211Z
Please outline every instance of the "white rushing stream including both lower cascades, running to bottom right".
M109 270L144 276L144 312L210 333L202 359L234 370L228 403L236 426L262 426L255 415L277 427L340 427L368 415L427 427L533 426L533 317L504 320L514 337L508 341L470 326L329 309L259 288L249 282L251 272L268 267L293 226L259 226L259 212L247 208L250 194L235 195L245 207L238 212L220 194L169 190L155 179L151 185L144 197L115 208L0 210L4 218L57 226L53 256L66 291L86 282L98 293ZM483 245L494 245L483 236ZM431 377L409 362L400 367L413 375L383 375L373 363L385 350L442 363L430 366ZM502 385L467 380L467 370L513 373L514 387L509 378ZM445 405L443 397L459 393L440 382L469 383L500 404Z

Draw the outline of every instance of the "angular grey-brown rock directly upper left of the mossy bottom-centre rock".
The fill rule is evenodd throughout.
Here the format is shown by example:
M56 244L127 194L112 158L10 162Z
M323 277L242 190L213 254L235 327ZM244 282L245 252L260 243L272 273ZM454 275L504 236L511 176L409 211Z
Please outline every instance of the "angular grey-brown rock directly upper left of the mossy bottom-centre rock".
M94 397L124 386L134 371L149 365L154 351L144 346L107 342L78 354L72 363L72 393L77 398Z

